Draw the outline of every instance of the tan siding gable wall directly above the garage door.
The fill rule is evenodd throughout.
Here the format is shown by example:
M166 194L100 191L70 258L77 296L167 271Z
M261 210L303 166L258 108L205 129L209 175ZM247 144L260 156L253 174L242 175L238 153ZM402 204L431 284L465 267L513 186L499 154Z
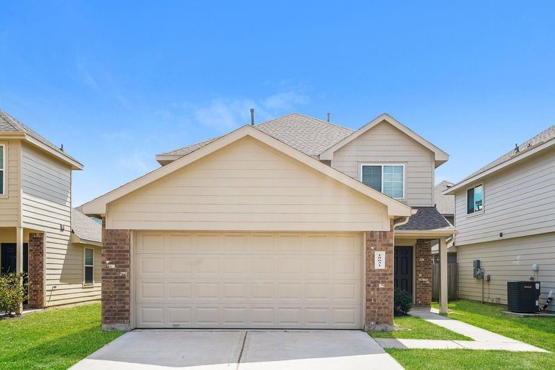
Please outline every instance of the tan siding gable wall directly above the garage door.
M384 230L384 205L249 137L108 205L108 228Z

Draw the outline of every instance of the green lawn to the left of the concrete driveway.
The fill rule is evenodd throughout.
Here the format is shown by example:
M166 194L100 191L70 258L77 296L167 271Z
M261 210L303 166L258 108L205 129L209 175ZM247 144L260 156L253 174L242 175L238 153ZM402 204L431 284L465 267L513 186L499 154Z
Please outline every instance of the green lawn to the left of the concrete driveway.
M0 321L0 369L67 369L121 332L101 330L100 304Z

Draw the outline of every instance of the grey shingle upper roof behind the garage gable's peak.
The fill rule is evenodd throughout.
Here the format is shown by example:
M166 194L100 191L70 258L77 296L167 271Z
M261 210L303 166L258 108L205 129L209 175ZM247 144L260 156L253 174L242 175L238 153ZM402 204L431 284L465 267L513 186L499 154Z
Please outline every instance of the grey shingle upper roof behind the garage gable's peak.
M307 155L319 155L354 132L350 128L298 113L291 113L283 117L271 119L256 125L255 128ZM187 155L218 138L214 137L214 139L191 144L174 151L162 153L161 155Z

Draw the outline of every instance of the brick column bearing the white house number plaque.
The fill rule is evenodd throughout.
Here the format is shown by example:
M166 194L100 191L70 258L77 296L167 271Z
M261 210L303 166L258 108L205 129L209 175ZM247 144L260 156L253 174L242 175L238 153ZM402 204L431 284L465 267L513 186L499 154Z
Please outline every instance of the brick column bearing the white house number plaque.
M393 326L393 231L367 231L366 330L391 330ZM386 268L374 269L376 251L385 251Z

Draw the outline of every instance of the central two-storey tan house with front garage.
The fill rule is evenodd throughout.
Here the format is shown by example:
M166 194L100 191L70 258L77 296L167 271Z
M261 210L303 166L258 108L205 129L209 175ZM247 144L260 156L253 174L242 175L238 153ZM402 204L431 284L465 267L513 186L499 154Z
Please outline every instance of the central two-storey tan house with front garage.
M448 155L392 117L291 114L156 159L83 205L105 228L103 328L391 328L394 285L430 304Z

